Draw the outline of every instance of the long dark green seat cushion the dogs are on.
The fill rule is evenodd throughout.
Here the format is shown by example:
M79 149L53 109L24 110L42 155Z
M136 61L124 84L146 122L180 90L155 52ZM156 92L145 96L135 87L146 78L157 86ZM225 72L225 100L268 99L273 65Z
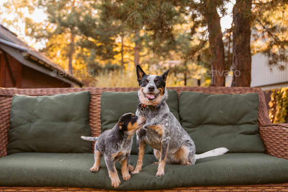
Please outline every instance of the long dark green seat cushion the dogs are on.
M199 159L195 165L166 165L165 175L155 177L156 159L144 156L141 173L123 181L121 165L116 162L122 182L118 190L157 190L188 186L254 185L288 182L288 160L263 153L227 153ZM137 155L131 155L136 166ZM0 158L0 186L79 187L114 190L107 167L93 173L93 154L15 153ZM101 167L105 165L101 160Z

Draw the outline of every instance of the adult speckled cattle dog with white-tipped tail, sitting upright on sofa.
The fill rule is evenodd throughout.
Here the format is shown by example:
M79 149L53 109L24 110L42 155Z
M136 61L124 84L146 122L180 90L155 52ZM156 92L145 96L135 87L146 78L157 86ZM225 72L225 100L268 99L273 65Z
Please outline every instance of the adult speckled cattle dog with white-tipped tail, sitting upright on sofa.
M136 70L140 101L136 115L144 115L146 124L137 130L138 160L132 174L142 169L146 143L154 148L154 155L159 159L159 162L154 163L158 165L157 177L165 174L165 164L194 165L196 159L222 155L228 151L226 148L218 148L196 155L193 140L165 102L165 82L169 70L161 76L146 75L140 65L137 65Z

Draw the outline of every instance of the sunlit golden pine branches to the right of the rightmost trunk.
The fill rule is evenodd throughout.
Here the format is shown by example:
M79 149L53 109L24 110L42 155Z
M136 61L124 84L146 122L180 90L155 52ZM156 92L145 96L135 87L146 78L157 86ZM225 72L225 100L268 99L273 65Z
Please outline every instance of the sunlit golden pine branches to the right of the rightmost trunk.
M270 69L288 64L288 0L257 0L252 6L251 48L268 57Z

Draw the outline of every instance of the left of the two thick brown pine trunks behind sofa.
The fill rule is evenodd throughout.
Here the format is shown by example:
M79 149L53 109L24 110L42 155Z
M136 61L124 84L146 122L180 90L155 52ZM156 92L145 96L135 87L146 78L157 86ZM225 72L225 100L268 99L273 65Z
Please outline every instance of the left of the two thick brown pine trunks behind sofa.
M205 19L208 25L209 43L211 53L211 83L210 86L225 86L225 55L222 41L220 16L216 7L212 6L205 11Z

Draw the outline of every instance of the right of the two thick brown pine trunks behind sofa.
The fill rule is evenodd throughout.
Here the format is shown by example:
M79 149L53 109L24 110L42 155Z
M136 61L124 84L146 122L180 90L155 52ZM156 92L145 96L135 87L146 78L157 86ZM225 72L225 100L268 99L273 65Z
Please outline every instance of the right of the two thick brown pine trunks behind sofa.
M236 0L233 7L233 79L232 86L250 86L250 21L252 0Z

